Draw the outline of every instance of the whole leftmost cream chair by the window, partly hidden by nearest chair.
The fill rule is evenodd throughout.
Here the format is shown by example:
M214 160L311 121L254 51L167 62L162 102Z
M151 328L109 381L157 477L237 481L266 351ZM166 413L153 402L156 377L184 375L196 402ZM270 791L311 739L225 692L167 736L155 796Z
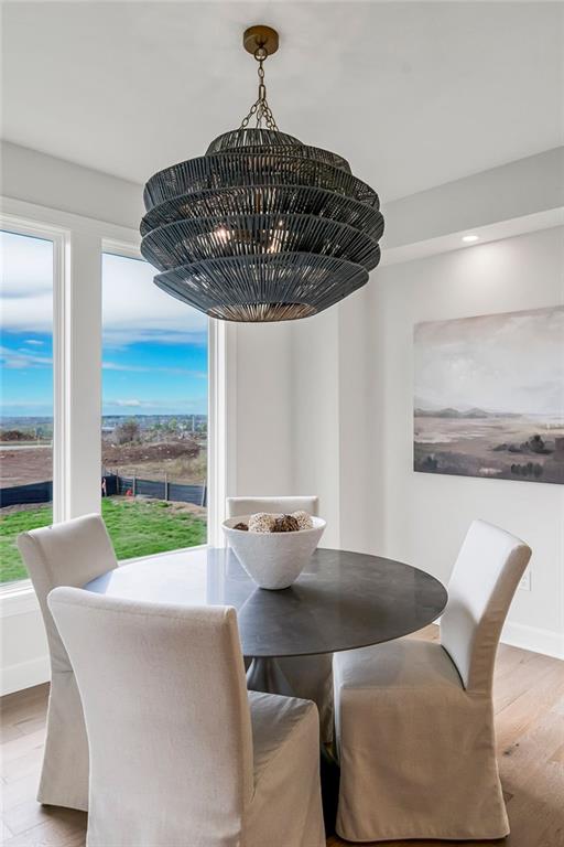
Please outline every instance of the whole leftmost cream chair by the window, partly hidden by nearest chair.
M83 586L118 562L99 515L22 533L18 547L37 596L51 658L47 735L37 800L88 808L88 742L76 679L47 607L56 586Z

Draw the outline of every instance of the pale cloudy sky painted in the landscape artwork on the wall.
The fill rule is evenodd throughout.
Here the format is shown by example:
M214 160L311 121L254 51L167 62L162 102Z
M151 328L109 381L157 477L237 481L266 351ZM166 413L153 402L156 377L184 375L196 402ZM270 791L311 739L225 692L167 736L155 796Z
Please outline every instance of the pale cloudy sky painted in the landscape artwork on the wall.
M564 307L420 323L415 406L564 418Z

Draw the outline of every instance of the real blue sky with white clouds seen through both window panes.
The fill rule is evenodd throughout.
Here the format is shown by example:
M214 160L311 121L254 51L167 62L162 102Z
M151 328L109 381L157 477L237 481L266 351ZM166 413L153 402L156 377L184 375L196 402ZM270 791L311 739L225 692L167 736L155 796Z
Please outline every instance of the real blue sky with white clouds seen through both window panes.
M2 414L53 414L53 247L0 233ZM102 256L102 414L207 412L207 318L153 285L145 261Z

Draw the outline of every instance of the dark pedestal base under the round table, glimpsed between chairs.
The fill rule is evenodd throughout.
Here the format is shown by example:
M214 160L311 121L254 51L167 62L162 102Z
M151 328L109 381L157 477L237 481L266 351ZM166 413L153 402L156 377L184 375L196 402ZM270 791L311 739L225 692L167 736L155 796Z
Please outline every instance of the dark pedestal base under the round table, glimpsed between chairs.
M296 697L279 662L270 656L254 656L252 658L247 671L247 688L250 691ZM319 774L325 834L328 837L335 834L340 771L337 760L325 744L321 746Z

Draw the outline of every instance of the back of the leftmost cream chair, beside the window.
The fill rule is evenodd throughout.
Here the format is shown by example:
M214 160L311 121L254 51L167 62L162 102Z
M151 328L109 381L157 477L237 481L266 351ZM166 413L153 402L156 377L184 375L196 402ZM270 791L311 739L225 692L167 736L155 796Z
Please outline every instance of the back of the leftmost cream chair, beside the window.
M18 548L43 614L51 668L53 672L69 671L68 656L47 607L47 594L57 586L82 587L118 567L106 525L100 515L75 517L21 533Z

